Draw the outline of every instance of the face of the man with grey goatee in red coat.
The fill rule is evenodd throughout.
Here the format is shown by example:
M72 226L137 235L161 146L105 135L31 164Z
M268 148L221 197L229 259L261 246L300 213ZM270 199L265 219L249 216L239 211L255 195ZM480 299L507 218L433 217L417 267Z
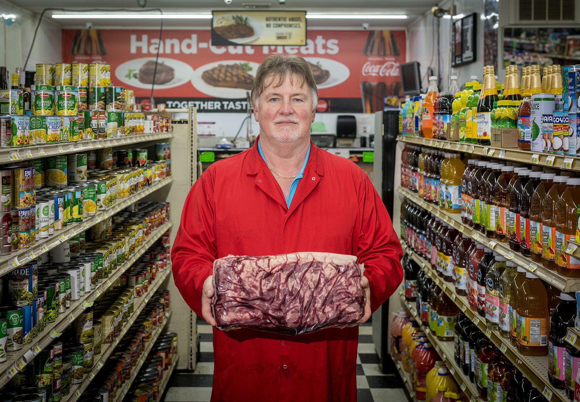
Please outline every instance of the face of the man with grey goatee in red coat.
M306 84L300 86L300 79L291 75L280 86L276 86L277 78L272 81L254 105L260 136L284 143L305 139L315 114L311 90Z

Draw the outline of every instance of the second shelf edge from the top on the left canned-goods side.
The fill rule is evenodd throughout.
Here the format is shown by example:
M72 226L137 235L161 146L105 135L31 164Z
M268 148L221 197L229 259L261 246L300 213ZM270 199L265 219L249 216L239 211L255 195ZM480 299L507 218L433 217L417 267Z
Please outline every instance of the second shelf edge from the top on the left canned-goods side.
M84 232L85 230L89 229L89 227L95 226L103 219L115 215L115 213L121 211L121 209L125 209L130 204L133 204L133 202L141 200L142 198L153 193L154 191L161 189L161 187L165 187L171 182L173 182L173 178L169 177L160 180L159 182L154 183L141 191L137 191L137 193L129 197L118 198L115 204L111 205L111 207L105 209L104 211L97 211L95 216L91 216L82 222L69 224L63 230L55 230L55 234L45 239L37 238L37 240L40 241L35 242L33 247L18 249L17 251L8 255L1 256L0 276L9 273L14 268L24 265L33 259L37 259L39 255L50 251L62 242L67 241L71 237L77 236L77 234Z

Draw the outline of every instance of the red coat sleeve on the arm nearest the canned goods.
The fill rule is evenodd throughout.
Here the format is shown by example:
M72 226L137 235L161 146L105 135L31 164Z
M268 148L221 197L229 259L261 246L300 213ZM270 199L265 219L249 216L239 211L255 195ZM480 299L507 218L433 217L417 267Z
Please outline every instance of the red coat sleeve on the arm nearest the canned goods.
M200 317L204 281L212 275L218 255L211 172L208 169L191 187L171 249L175 285Z

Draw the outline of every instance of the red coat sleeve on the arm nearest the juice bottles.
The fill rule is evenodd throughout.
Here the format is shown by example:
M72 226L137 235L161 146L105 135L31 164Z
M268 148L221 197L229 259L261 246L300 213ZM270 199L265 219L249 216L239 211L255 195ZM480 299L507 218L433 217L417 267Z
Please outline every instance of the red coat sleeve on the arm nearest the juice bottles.
M371 310L375 312L403 281L403 248L389 212L366 173L363 180L358 204L362 220L357 258L364 264L364 276L371 290Z

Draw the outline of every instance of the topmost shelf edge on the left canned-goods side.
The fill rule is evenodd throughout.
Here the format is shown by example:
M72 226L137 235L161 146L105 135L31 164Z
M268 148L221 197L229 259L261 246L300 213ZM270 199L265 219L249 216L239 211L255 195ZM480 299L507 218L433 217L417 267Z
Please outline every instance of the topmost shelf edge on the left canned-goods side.
M9 162L24 161L29 159L44 158L53 155L70 154L96 150L100 148L119 147L130 144L144 143L170 139L172 133L140 134L125 137L110 137L99 140L83 140L78 142L63 142L40 144L32 147L10 147L0 148L0 164Z

